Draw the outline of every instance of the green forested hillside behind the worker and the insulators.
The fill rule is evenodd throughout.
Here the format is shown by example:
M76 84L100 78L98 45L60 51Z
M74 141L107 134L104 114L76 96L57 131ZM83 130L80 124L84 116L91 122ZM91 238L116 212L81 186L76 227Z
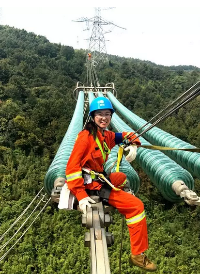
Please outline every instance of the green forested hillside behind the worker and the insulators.
M200 80L197 67L165 67L138 59L108 57L109 65L101 65L97 71L100 83L114 82L118 99L145 120ZM77 81L86 82L86 58L85 50L53 44L46 37L25 30L0 26L0 236L43 186L46 171L76 106L72 92ZM200 97L169 117L160 128L200 147ZM137 196L147 214L150 245L147 255L158 264L157 273L199 274L200 208L184 202L169 203L138 165L133 166L141 179ZM195 183L200 195L200 180L195 178ZM114 224L110 231L115 244L108 250L111 273L117 274L121 216L118 212L112 215ZM17 228L6 235L0 246ZM49 203L0 261L0 274L89 274L89 249L84 247L84 233L80 212L58 210L57 204ZM19 232L0 252L0 257L21 235ZM143 273L128 265L129 254L125 227L122 273Z

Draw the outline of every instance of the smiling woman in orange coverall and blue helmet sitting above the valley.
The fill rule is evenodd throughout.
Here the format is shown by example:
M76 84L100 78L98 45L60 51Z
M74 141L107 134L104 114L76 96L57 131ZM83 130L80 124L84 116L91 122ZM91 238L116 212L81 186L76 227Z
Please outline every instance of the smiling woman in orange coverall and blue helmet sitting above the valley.
M88 195L95 193L95 191L101 193L102 189L105 190L106 188L106 199L109 205L117 208L125 216L127 222L132 252L129 263L146 271L156 271L157 266L143 254L148 248L143 203L130 193L116 191L110 188L107 183L103 184L98 177L92 179L86 175L85 180L83 178L82 168L104 174L104 164L108 159L110 149L121 144L124 138L130 141L136 137L133 135L131 138L127 138L132 135L132 132L114 133L105 130L110 124L113 113L114 109L107 98L98 97L92 101L90 105L92 120L78 134L66 166L68 188L77 197L79 208L83 213L86 213L87 206L91 207L90 203L95 203ZM129 154L126 156L127 161L133 161L136 158L136 145L140 145L138 138L134 140L134 144L125 148L125 150L129 150ZM123 189L126 175L122 172L111 173L109 181L115 187Z

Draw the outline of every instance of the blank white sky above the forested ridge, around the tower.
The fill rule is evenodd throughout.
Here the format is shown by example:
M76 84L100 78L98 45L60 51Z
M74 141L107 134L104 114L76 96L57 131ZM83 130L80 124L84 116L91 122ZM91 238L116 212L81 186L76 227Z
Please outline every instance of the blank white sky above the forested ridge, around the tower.
M109 4L116 6L117 2ZM73 2L77 4L76 8L67 6L62 0L53 4L35 0L34 4L38 7L30 7L28 3L17 1L17 7L14 7L14 1L1 1L1 24L44 35L53 43L88 48L85 39L90 37L92 29L83 32L85 22L72 20L93 17L94 8L91 6L97 6L98 2L84 2L85 6L79 7L76 1ZM128 6L128 1L125 3ZM106 6L106 1L101 4ZM132 0L129 6L101 12L103 18L127 29L115 28L105 34L106 40L109 40L106 42L108 54L163 65L191 64L200 67L199 0Z

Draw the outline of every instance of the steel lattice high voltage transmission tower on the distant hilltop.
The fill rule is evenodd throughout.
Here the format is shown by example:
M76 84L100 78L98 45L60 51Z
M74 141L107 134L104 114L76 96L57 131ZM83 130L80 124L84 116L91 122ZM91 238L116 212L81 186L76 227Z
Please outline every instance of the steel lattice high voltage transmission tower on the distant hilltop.
M87 17L81 17L77 20L73 20L74 22L86 22L86 30L90 30L92 28L92 34L90 37L90 43L88 48L89 59L91 60L92 64L97 66L99 62L108 63L108 56L106 50L106 42L104 33L111 32L115 27L122 28L111 21L108 21L101 17L101 10L107 10L112 8L94 8L95 15L94 17L88 19ZM111 25L111 28L104 32L103 25Z

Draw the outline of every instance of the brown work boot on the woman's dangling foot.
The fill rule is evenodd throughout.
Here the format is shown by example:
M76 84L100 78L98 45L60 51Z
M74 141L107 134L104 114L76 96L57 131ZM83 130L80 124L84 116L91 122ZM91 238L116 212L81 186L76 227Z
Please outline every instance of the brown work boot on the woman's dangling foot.
M140 267L143 270L154 272L157 270L157 265L150 261L145 254L132 255L129 258L129 263Z

